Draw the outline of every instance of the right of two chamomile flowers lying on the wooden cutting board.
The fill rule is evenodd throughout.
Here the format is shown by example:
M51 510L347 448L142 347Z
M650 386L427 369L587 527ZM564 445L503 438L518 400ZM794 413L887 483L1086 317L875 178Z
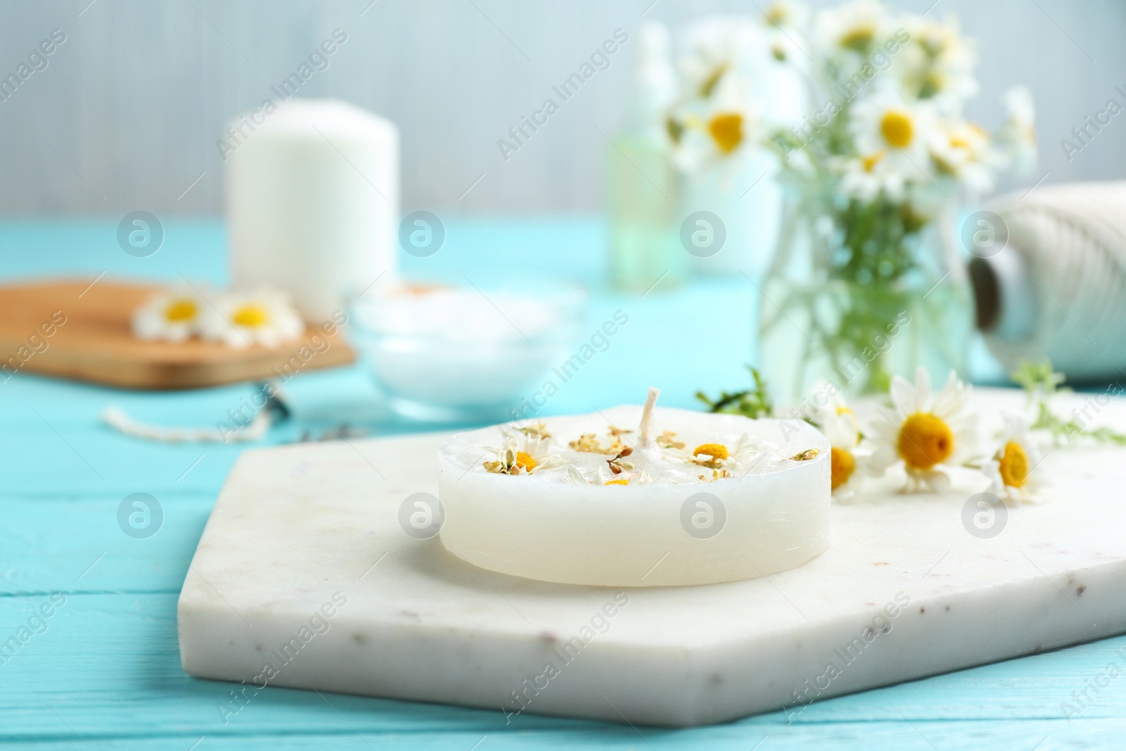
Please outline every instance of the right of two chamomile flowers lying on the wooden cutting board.
M298 338L305 323L293 307L288 295L274 289L250 294L227 294L208 305L199 321L204 339L227 347L278 347Z

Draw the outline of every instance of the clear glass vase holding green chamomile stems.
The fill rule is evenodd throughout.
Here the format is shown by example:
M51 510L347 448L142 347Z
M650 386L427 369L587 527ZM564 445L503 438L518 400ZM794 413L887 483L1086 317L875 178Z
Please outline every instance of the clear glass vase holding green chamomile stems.
M950 233L953 212L848 199L787 185L781 232L761 286L758 367L777 404L821 383L846 396L886 392L919 366L965 377L973 309Z

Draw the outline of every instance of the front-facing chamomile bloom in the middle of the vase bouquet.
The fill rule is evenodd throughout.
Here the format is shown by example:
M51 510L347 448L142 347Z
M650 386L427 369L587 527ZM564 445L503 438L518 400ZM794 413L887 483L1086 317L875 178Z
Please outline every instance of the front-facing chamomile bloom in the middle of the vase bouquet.
M857 153L883 153L877 166L894 170L905 179L923 177L927 167L927 143L930 140L933 113L920 102L908 102L888 93L875 93L857 101L849 126Z

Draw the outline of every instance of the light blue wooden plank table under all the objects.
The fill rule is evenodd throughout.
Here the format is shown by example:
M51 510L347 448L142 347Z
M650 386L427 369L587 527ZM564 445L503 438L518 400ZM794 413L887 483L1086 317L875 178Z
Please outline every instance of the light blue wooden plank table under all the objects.
M100 220L5 223L0 269L7 279L93 279L107 271L225 280L217 222L167 222L164 245L146 259L122 252L115 227L116 221ZM472 278L518 267L595 286L592 321L619 307L628 312L613 347L551 402L551 412L636 401L650 384L662 387L664 403L691 406L697 388L743 383L754 320L745 280L658 288L640 299L598 290L596 221L450 220L447 230L438 256L404 258L409 274L457 278L461 268ZM373 399L361 366L310 374L301 387L322 405ZM26 637L14 653L0 654L0 743L177 751L1126 748L1126 678L1090 688L1105 682L1110 663L1126 665L1126 637L821 701L792 723L777 712L685 731L530 715L506 725L500 710L268 688L224 724L217 705L230 685L180 670L176 600L242 448L150 444L111 432L98 414L118 404L146 421L211 424L250 391L129 393L26 373L0 384L0 643ZM408 429L369 427L375 433ZM323 421L285 423L262 442L325 428ZM134 492L151 493L164 511L163 526L148 539L126 536L117 524L118 504ZM1064 704L1076 705L1075 692L1084 690L1088 706L1069 722Z

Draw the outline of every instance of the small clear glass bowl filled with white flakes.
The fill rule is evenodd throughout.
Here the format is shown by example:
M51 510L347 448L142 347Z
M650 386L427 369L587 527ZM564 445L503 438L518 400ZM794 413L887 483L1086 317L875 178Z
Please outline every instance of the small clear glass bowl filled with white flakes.
M400 417L512 420L570 356L586 302L564 285L400 287L352 303L351 341Z

